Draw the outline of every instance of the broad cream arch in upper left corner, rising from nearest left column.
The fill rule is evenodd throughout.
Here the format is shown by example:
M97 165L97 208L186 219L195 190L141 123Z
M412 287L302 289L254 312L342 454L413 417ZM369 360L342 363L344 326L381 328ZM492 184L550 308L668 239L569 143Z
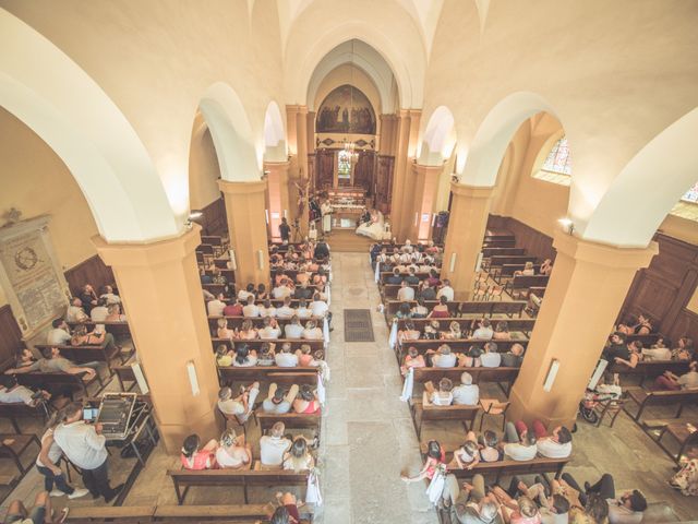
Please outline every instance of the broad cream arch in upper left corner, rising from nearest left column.
M177 188L166 192L135 131L95 81L50 40L2 9L0 47L0 105L68 166L100 235L109 242L179 235L185 194Z

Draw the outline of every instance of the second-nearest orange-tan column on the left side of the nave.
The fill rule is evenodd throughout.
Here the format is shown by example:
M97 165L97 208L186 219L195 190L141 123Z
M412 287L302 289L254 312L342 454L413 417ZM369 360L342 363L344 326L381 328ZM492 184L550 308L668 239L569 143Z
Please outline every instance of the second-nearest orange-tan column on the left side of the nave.
M230 247L236 253L236 285L269 283L269 252L264 216L266 182L218 180L226 199Z

